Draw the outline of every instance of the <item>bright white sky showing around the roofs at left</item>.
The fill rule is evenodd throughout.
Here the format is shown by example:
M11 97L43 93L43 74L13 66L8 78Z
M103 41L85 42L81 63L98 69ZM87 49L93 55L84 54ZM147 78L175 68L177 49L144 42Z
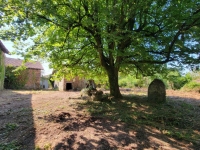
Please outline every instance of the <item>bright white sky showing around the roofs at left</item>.
M2 40L2 43L4 44L4 46L9 50L9 52L13 52L14 51L14 48L13 48L13 43L10 42L10 41L3 41ZM8 55L6 54L6 57L9 57L9 58L18 58L18 59L23 59L22 57L20 57L19 55ZM42 75L49 75L52 73L52 69L49 68L49 63L43 63L41 62L44 70L42 71Z

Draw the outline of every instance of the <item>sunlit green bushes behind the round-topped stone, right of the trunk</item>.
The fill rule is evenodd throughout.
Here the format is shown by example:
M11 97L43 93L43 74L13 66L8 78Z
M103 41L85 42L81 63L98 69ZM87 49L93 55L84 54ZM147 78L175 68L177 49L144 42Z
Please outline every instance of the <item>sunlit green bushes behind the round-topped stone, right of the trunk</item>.
M200 76L199 72L189 72L185 75L181 74L180 70L167 69L164 74L155 74L150 77L140 77L136 79L135 76L127 75L119 77L119 86L126 88L133 87L148 87L150 82L155 79L164 81L166 88L174 90L197 91L200 90Z

